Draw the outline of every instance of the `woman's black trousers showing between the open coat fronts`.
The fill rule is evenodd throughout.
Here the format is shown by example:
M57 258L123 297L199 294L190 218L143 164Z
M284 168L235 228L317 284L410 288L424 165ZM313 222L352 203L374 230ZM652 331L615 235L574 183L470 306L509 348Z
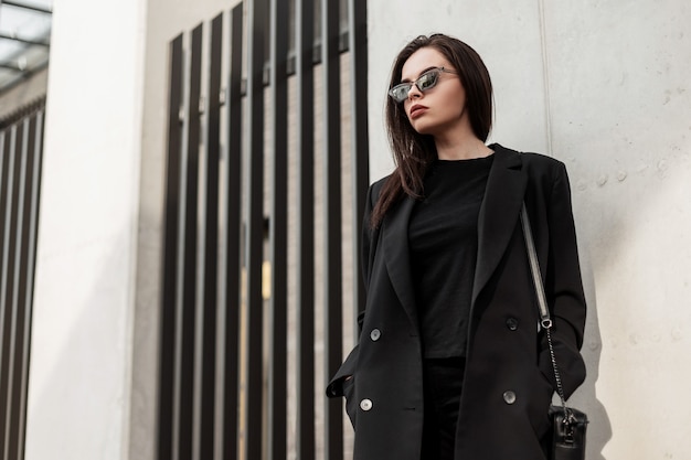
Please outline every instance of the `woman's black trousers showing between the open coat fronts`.
M454 460L466 360L424 360L425 421L421 460Z

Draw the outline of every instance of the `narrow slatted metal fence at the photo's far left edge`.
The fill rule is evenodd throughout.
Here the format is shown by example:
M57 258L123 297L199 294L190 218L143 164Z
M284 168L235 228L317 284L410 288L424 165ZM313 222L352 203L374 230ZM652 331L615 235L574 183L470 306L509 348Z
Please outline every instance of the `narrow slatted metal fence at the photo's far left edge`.
M24 458L45 99L0 122L0 459Z

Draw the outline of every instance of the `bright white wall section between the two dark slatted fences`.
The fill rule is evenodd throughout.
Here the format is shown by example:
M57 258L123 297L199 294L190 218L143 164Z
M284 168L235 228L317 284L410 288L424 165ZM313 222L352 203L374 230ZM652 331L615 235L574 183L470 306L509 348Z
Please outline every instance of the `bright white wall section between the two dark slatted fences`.
M54 6L28 460L126 458L143 13Z

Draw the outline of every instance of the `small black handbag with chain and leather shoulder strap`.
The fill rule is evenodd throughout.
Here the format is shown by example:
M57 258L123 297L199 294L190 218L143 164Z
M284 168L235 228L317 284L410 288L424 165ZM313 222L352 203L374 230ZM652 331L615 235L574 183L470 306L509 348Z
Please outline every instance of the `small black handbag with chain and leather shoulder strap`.
M566 406L564 388L562 387L562 378L556 366L556 360L554 359L554 347L552 346L552 319L550 318L550 310L548 309L544 286L542 286L540 265L538 264L538 255L535 253L535 243L533 242L532 231L530 229L530 221L528 218L525 203L523 203L523 207L521 210L521 222L523 224L525 247L528 248L530 271L533 278L533 284L535 285L538 306L540 307L540 325L545 330L548 345L550 346L552 370L554 371L554 379L556 381L556 393L562 400L561 406L553 405L550 407L552 432L550 434L548 445L549 459L585 460L585 430L587 428L588 418L585 413Z

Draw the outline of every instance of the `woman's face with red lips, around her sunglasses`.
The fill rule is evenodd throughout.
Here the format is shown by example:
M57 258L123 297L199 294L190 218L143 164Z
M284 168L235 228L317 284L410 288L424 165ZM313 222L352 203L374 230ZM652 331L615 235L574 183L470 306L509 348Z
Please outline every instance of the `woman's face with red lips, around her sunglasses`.
M456 68L433 47L422 47L407 58L401 69L401 82L415 82L425 72L444 67L447 71L438 74L436 85L421 92L415 85L408 97L402 103L408 121L421 135L433 137L444 136L450 130L469 127L465 110L466 92Z

